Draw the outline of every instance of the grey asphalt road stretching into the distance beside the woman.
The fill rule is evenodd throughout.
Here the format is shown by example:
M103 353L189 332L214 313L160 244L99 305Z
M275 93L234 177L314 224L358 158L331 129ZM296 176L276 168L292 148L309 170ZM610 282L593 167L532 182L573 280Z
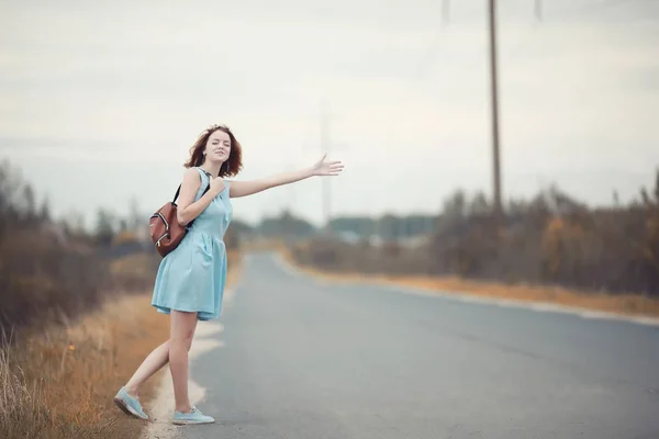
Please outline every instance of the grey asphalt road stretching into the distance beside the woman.
M390 288L252 256L221 348L194 360L214 425L180 438L659 438L659 327Z

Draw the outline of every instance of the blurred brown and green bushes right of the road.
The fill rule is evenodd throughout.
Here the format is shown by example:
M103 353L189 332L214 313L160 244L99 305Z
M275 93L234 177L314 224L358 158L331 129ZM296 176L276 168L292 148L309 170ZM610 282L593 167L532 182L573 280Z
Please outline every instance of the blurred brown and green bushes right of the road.
M334 271L457 274L659 296L659 169L654 188L640 188L626 204L614 196L610 206L589 207L554 185L529 200L511 201L501 218L492 207L482 194L469 200L456 191L428 228L415 228L413 216L336 218L335 225L362 235L378 223L381 230L399 232L383 235L379 245L316 237L295 246L293 256ZM390 228L383 227L386 221ZM414 246L396 239L412 230L424 239Z

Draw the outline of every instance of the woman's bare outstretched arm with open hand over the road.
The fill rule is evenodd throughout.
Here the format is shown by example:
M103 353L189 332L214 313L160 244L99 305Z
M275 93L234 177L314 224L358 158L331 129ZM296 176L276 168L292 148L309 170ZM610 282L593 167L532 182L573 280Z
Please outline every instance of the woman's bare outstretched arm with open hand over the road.
M297 171L280 172L257 180L231 181L228 185L228 196L247 196L270 188L294 183L295 181L314 176L338 176L343 170L343 164L339 160L325 161L325 157L327 157L326 154L313 166Z

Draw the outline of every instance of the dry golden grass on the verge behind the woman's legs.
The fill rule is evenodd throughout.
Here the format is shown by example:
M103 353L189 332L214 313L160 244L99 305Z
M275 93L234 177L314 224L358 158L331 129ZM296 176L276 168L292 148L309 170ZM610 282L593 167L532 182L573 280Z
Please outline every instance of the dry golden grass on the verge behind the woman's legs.
M139 271L134 262L114 269ZM230 267L232 285L241 268L235 250ZM114 295L78 322L22 333L0 349L0 438L137 438L146 424L124 415L112 397L168 336L169 317L150 306L150 292ZM158 382L146 383L143 402Z

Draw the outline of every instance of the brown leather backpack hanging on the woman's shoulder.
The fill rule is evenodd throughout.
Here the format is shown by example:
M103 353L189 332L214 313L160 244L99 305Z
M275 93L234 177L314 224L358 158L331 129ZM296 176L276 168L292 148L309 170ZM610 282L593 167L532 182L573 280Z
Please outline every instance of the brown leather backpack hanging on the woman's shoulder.
M208 175L208 172L204 171ZM206 185L204 189L202 196L208 192L211 184ZM156 250L160 254L161 257L165 257L171 250L178 247L183 236L188 233L188 229L192 226L194 219L192 219L188 225L181 226L177 218L177 210L178 206L176 204L176 199L181 191L181 185L179 184L176 190L176 194L170 202L167 202L163 205L163 207L158 209L148 221L148 229L156 246Z

